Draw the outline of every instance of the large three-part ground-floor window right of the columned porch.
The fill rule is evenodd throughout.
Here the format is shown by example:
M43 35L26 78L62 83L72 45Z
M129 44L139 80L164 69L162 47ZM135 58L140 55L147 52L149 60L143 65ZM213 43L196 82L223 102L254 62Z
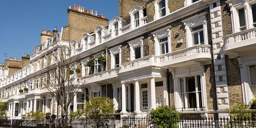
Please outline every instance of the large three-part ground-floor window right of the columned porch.
M182 108L202 108L200 76L179 78Z

